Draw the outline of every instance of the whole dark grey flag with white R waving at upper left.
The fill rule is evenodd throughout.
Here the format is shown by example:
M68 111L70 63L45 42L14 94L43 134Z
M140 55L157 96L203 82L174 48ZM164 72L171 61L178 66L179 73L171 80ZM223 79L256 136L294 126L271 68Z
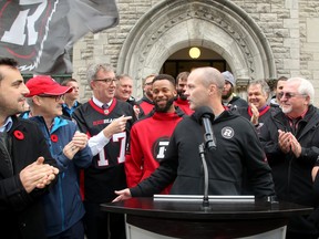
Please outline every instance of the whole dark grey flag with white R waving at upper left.
M117 23L115 0L0 1L0 55L14 58L22 73L72 73L73 44Z

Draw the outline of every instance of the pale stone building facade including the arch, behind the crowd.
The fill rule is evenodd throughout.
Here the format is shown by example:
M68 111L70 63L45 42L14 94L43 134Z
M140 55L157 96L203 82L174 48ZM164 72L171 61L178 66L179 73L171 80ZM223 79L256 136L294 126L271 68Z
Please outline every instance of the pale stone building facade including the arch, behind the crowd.
M83 101L91 97L89 63L111 63L130 74L138 98L142 79L191 46L222 55L239 91L251 80L281 75L306 77L319 91L318 0L117 0L117 27L89 33L73 48Z

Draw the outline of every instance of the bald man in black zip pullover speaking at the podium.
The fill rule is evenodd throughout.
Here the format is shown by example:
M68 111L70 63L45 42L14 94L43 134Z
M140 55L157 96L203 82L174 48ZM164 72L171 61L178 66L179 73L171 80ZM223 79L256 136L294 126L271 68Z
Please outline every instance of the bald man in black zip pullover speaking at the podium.
M119 196L114 201L153 196L171 183L172 195L203 195L204 173L198 153L203 143L209 195L243 195L243 175L248 176L256 197L275 195L271 170L253 124L225 111L222 104L224 83L214 67L198 67L189 74L185 94L195 113L176 126L160 167L136 187L115 191ZM204 137L207 133L208 138Z

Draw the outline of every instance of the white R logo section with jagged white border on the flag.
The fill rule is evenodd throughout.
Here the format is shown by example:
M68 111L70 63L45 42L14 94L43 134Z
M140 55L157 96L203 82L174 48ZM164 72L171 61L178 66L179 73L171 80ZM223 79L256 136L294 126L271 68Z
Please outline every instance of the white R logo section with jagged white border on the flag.
M2 1L0 10L1 55L19 61L21 71L33 71L45 53L50 21L59 0ZM18 6L17 6L18 4Z

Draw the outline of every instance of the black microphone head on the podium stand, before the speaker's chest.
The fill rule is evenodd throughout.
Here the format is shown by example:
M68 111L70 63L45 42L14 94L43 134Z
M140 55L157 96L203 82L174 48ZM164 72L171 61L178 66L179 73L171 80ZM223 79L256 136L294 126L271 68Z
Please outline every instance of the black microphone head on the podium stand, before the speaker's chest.
M212 126L212 121L215 118L215 115L213 114L212 108L208 106L200 106L195 110L194 117L197 119L197 122L199 122L200 125L204 125L204 141L206 149L215 149L216 142Z

